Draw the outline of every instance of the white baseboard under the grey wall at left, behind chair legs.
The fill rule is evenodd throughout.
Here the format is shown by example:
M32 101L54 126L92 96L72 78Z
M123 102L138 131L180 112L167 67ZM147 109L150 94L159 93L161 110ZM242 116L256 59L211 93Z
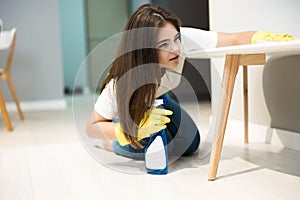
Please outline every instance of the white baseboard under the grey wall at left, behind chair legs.
M48 111L48 110L64 110L67 108L66 99L53 99L41 101L24 101L20 102L22 111ZM8 112L17 112L14 102L7 102L6 109Z

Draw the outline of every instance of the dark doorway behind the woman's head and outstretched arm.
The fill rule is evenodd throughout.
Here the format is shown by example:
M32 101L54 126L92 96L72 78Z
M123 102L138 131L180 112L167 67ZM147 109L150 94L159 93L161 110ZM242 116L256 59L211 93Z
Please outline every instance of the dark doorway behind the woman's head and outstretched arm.
M183 26L209 30L208 0L152 0L152 3L161 5L176 14L181 19ZM186 59L183 76L192 86L199 101L210 100L209 59ZM182 80L180 85L174 89L176 94L191 95L190 90L186 89L188 84L186 81Z

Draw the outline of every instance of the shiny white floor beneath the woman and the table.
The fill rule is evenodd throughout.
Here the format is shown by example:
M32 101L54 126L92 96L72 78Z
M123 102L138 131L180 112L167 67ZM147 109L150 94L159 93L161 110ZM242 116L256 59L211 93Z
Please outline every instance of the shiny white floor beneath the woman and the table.
M91 109L79 99L80 109ZM81 144L70 102L68 98L65 111L25 112L25 121L10 113L10 133L0 120L0 200L300 197L300 152L251 139L244 145L242 139L226 138L228 134L216 181L207 181L209 158L198 154L176 161L164 176L116 171L96 161ZM200 106L204 115L209 107Z

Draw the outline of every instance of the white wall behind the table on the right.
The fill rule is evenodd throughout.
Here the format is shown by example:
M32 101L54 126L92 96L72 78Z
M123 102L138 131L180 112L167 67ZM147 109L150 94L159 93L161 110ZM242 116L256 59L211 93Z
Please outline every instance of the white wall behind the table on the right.
M210 0L209 3L211 30L235 32L264 29L300 37L298 22L300 1L298 0ZM216 66L212 68L214 97L218 93L217 84L219 84L219 77L222 76L224 58L213 59L212 64ZM250 122L269 126L271 118L263 92L263 67L250 67L248 73ZM243 120L241 75L240 70L236 79L229 119Z

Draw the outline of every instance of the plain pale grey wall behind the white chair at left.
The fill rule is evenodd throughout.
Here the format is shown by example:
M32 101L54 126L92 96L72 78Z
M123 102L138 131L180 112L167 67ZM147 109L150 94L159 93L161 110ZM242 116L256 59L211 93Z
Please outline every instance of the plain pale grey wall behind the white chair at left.
M17 28L12 76L21 106L41 101L64 106L58 0L1 0L0 18L4 29ZM2 81L9 102L12 98L7 88Z

